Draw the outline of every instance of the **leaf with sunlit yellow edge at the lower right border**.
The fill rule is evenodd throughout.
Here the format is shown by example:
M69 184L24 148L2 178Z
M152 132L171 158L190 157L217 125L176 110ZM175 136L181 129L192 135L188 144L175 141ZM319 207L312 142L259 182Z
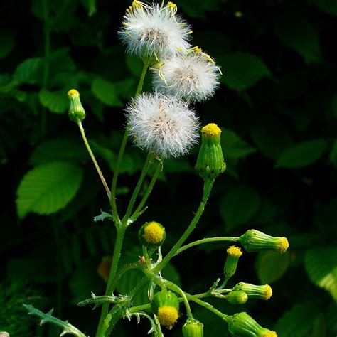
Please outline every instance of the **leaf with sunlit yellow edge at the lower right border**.
M304 265L311 281L326 289L337 301L337 247L308 250Z

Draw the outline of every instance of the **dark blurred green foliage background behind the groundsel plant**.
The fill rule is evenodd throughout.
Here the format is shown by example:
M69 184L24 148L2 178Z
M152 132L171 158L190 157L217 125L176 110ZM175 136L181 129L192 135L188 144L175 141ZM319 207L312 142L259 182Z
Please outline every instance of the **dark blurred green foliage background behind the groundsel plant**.
M223 70L215 97L196 105L203 124L223 129L228 170L217 179L191 240L241 235L256 228L289 237L284 255L247 254L236 282L271 284L267 302L232 306L280 337L337 333L337 2L329 0L177 1L193 26L193 44ZM93 222L109 210L75 124L66 92L80 91L84 126L111 181L124 130L124 106L135 92L141 61L124 55L117 31L128 1L3 1L0 11L1 273L0 331L11 336L58 336L38 326L21 303L69 319L93 336L100 309L76 303L102 294L97 272L112 252L114 226ZM150 89L149 76L146 90ZM193 171L198 149L166 162L149 210L129 230L123 262L140 255L137 230L163 223L164 252L193 216L202 181ZM121 208L144 162L129 145L119 178ZM21 184L25 181L25 184ZM20 186L20 187L19 187ZM221 276L223 244L182 253L164 270L188 292ZM104 266L103 266L104 267ZM118 291L132 288L129 274ZM230 285L230 284L229 284ZM205 336L228 336L225 323L193 305ZM184 314L183 312L181 313ZM166 336L181 336L181 319ZM136 330L136 328L138 330ZM146 336L122 321L114 336Z

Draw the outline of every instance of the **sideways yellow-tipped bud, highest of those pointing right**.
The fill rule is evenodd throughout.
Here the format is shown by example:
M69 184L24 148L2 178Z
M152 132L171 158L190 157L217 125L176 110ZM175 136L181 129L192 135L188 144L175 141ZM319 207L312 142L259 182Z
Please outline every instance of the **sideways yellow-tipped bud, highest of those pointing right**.
M272 237L259 230L247 230L241 235L239 242L247 252L259 252L260 250L272 250L284 253L289 247L287 237Z

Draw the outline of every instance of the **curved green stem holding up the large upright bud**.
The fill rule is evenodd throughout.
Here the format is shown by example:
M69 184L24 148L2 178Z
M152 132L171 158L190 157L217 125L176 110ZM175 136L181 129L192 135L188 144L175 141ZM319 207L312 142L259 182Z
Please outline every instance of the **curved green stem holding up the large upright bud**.
M190 225L188 228L183 232L183 235L181 235L181 238L176 242L176 245L172 247L172 249L168 252L168 254L164 257L159 264L154 267L153 272L156 274L163 269L167 262L171 260L171 258L176 255L176 252L178 252L179 248L181 245L183 245L183 242L186 241L188 236L191 234L194 228L196 228L196 224L198 223L200 216L203 214L203 210L205 209L205 205L207 203L208 197L210 196L210 191L212 190L214 183L214 179L208 179L205 181L204 186L203 186L203 198L200 202L200 205L198 207L198 210L196 211L196 215L194 215L194 218L192 219Z

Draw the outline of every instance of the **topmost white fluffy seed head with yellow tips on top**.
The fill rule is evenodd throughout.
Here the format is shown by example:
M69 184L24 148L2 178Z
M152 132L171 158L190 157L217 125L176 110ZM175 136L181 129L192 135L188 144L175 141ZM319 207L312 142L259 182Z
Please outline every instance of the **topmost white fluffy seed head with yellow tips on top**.
M191 27L176 15L171 2L159 6L134 1L124 15L119 37L127 53L155 62L190 48Z

